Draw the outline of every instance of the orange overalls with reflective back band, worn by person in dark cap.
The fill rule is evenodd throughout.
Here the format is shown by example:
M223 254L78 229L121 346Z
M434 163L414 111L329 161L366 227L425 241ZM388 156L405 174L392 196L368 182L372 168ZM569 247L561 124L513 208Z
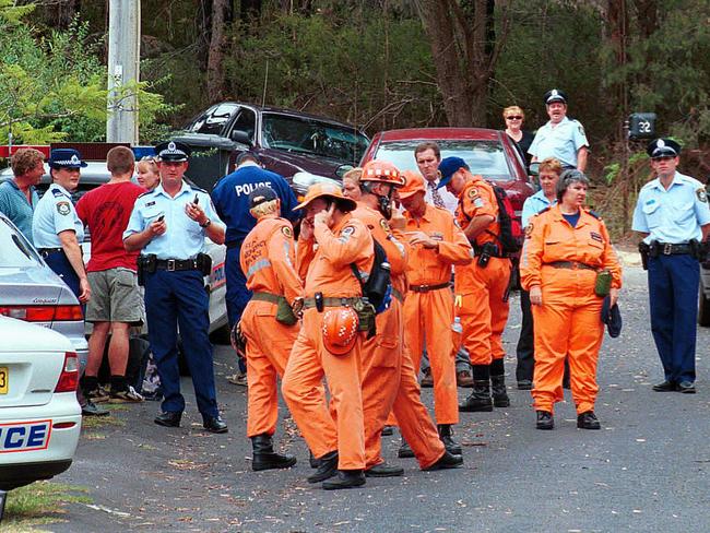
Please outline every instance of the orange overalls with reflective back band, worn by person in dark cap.
M285 296L293 301L303 286L295 270L294 233L285 218L264 216L241 245L241 271L256 295L241 316L247 337L247 437L273 435L279 417L276 375L284 375L299 325L276 321L276 304L259 296Z

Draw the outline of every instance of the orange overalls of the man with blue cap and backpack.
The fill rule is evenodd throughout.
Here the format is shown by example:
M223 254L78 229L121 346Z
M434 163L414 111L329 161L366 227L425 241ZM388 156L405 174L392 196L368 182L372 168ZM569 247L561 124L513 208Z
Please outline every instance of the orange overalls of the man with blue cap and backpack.
M459 194L457 221L466 228L472 218L481 215L494 217L488 227L475 238L476 256L486 242L500 249L498 203L490 185L481 176L474 176ZM478 265L477 258L471 264L455 268L455 315L461 318L463 333L461 343L469 351L472 365L489 365L502 359L502 330L508 321L508 301L504 301L510 271L510 259L492 257L486 266Z

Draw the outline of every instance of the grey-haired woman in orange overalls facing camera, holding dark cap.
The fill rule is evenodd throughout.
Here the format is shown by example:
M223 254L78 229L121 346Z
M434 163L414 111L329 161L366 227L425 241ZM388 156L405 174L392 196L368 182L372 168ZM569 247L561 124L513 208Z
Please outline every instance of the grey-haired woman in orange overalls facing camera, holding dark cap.
M565 356L569 358L577 427L599 429L594 414L596 360L604 324L597 272L611 273L608 297L616 304L622 268L604 223L582 208L589 180L565 170L557 182L557 205L531 218L520 264L535 322L532 391L539 429L554 427L553 406L563 400ZM596 285L596 291L595 291Z

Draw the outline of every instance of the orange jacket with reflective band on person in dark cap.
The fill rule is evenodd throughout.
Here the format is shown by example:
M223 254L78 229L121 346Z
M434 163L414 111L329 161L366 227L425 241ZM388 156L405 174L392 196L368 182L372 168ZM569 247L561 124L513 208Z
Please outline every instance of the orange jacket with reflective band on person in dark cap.
M301 296L294 268L294 232L287 220L259 218L241 245L239 262L249 291L283 295L289 303Z

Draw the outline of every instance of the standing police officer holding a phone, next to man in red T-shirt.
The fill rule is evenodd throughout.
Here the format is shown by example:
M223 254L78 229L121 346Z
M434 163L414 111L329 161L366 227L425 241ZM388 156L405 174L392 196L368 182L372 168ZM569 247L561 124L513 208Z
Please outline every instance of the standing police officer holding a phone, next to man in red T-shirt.
M138 198L123 233L128 251L141 250L139 270L145 287L149 340L161 376L163 412L159 426L179 427L185 399L180 394L177 328L180 327L185 357L203 427L226 433L217 411L210 328L209 295L203 275L208 258L204 237L224 242L224 226L210 196L184 179L190 149L179 142L155 147L161 185Z

